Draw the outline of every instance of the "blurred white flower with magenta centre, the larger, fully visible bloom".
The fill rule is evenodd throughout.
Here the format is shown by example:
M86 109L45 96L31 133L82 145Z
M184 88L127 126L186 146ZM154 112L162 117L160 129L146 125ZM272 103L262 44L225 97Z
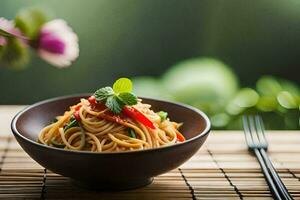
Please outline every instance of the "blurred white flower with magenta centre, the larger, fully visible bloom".
M64 20L49 21L41 28L37 51L50 64L67 67L79 55L78 37Z

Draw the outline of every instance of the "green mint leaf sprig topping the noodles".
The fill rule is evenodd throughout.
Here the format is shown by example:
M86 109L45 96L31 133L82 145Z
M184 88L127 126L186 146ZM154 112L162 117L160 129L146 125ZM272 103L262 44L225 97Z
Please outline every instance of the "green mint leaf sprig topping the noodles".
M104 87L97 90L94 96L114 113L120 113L125 105L135 105L138 102L132 93L132 82L128 78L118 79L113 88Z

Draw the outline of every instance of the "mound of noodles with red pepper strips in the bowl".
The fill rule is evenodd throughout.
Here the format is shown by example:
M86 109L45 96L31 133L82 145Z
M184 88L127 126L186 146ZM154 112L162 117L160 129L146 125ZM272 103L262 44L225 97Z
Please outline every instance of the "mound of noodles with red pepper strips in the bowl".
M38 141L69 150L120 152L158 148L182 142L179 123L162 119L141 100L112 113L105 104L81 99L57 121L44 127ZM148 121L147 121L148 120ZM182 136L182 135L181 135Z

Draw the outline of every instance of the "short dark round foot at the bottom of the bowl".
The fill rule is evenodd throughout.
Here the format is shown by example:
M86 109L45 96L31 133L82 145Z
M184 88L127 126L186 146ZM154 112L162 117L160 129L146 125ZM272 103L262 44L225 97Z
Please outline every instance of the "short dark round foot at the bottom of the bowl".
M153 178L147 179L136 179L136 180L129 180L129 181L120 181L120 182L84 182L71 179L72 183L78 187L82 187L89 190L105 190L105 191L112 191L112 190L131 190L140 187L144 187L149 185L153 182Z

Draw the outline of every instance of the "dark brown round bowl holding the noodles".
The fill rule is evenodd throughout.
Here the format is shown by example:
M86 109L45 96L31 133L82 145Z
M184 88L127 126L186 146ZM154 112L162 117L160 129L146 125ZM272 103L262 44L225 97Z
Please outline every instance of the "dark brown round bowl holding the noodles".
M153 177L175 169L193 156L210 131L209 119L195 108L142 98L154 111L164 110L172 120L183 122L181 132L187 140L156 149L115 153L70 151L36 142L44 126L86 96L58 97L33 104L14 117L11 129L22 148L40 165L88 187L118 190L147 185Z

